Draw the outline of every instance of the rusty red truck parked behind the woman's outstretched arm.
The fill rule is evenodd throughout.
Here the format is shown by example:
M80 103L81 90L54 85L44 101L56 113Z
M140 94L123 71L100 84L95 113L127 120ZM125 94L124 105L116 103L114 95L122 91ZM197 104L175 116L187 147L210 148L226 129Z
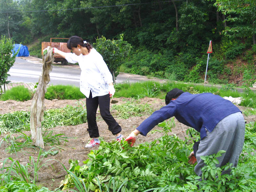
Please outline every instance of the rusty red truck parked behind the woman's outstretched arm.
M50 42L42 42L42 55L43 55L43 50L47 48L48 46L50 47L56 47L58 50L63 51L63 52L71 52L70 49L67 47L67 43L62 43L62 42L52 42L52 39L69 39L69 38L51 38ZM61 64L66 65L68 64L68 61L63 59L62 57L58 55L54 55L54 62L61 62Z

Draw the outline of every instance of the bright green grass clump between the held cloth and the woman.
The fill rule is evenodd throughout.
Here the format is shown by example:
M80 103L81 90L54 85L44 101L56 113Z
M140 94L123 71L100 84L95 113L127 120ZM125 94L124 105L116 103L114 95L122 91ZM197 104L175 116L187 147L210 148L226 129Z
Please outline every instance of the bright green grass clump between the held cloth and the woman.
M80 92L79 87L72 85L53 85L47 88L44 98L48 100L79 100L85 98L85 96Z

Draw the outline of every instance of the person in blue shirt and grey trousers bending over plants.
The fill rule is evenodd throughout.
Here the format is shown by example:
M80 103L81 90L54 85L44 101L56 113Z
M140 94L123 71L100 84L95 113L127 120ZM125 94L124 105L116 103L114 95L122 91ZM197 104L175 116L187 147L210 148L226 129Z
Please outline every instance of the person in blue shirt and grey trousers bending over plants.
M195 172L202 176L204 161L200 156L226 152L218 157L221 167L232 163L236 167L244 144L244 117L231 101L212 93L191 94L174 88L165 96L166 106L155 111L125 139L133 146L136 136L146 136L158 123L174 116L180 123L200 132L200 143L196 152L191 152L188 163L196 164ZM222 174L229 173L230 169Z

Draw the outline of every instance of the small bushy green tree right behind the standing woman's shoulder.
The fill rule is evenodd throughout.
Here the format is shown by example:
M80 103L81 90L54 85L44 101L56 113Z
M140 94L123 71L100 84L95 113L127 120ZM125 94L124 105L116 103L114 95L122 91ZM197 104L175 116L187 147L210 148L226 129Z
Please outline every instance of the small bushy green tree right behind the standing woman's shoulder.
M119 67L124 62L125 58L129 56L132 49L131 44L123 41L124 34L120 35L118 40L106 39L102 36L96 39L96 44L93 44L95 49L102 55L106 62L109 71L113 75L114 84L116 84L116 76L119 74Z

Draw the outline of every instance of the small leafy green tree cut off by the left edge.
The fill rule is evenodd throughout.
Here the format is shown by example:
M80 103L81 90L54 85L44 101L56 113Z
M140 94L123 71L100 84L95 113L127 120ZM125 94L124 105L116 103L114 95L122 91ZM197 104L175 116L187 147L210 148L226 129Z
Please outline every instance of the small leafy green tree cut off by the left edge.
M4 85L4 92L5 92L5 84L9 83L10 81L7 81L9 74L7 74L10 70L10 68L13 66L13 63L15 62L15 57L18 54L19 51L17 51L14 55L12 55L12 39L5 38L5 36L1 36L0 41L0 87L1 92L2 86Z

